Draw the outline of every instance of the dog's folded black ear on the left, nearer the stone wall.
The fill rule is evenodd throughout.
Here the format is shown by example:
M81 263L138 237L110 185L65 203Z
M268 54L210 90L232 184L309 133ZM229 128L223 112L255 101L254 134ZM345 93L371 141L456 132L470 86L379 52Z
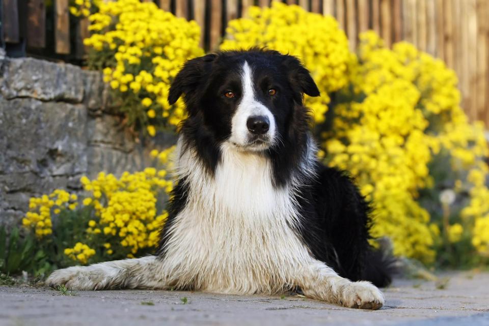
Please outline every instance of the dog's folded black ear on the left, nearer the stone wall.
M217 54L207 54L192 60L183 65L183 68L177 74L170 86L168 102L170 105L175 104L182 94L195 90L209 65L215 60Z

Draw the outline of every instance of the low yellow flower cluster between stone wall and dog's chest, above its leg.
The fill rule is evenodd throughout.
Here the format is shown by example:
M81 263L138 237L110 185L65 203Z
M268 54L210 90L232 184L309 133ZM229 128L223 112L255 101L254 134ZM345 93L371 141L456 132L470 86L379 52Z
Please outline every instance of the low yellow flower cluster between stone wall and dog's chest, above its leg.
M92 194L84 205L92 205L98 217L89 221L87 232L101 233L108 243L130 248L129 256L156 246L159 229L168 217L166 211L157 214L157 196L161 189L169 193L173 187L164 179L166 175L166 170L146 168L132 174L124 172L119 179L102 172L92 181L82 177L84 189ZM108 254L112 253L110 248L106 247Z

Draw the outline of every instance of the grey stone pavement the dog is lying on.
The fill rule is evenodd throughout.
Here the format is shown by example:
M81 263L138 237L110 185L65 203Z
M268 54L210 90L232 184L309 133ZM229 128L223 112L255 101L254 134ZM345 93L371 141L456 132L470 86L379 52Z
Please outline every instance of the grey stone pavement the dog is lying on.
M45 288L0 287L0 326L489 325L489 273L443 277L450 278L443 289L432 281L395 280L385 289L386 306L378 311L297 296L149 290L68 296Z

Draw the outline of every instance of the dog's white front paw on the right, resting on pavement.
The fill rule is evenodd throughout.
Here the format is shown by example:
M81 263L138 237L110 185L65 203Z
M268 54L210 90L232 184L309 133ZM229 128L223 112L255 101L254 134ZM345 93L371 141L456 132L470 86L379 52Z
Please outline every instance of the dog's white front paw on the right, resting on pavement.
M381 290L365 281L351 282L346 285L341 297L343 306L348 308L377 310L385 303Z

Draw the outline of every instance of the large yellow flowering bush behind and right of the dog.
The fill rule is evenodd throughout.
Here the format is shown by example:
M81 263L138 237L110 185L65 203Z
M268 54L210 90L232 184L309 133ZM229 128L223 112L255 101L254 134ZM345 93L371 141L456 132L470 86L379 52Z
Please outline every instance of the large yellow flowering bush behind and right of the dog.
M267 46L304 62L322 97L306 100L325 121L315 128L319 155L372 200L372 235L389 236L396 255L432 262L438 250L442 264L480 262L489 253L487 145L459 107L454 72L411 44L388 49L373 32L352 54L332 17L298 6L249 12L229 23L221 48ZM451 203L439 199L447 189Z

